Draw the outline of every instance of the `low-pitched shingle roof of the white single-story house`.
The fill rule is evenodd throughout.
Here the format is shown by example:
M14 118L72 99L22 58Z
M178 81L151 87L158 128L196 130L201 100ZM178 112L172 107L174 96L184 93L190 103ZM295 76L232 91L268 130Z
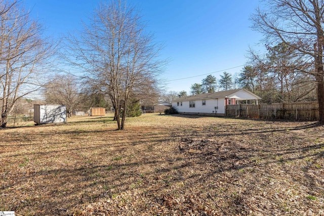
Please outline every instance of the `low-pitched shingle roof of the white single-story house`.
M205 93L205 94L200 94L200 95L184 96L184 97L174 100L173 102L189 101L189 100L192 101L192 100L201 100L201 99L228 98L229 96L231 96L239 91L248 92L249 94L254 96L255 99L261 99L259 96L253 94L252 92L250 92L246 89L234 89L234 90L227 90L227 91L214 92L214 93Z

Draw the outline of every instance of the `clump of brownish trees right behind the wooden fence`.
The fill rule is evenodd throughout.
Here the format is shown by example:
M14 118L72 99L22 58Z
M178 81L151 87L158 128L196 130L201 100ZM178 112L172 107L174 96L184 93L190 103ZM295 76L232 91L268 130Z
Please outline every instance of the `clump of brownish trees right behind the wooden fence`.
M262 97L262 103L295 102L316 100L316 85L307 70L313 69L296 55L292 46L266 45L268 53L260 55L250 49L248 66L239 74L239 87ZM300 69L303 69L303 72Z

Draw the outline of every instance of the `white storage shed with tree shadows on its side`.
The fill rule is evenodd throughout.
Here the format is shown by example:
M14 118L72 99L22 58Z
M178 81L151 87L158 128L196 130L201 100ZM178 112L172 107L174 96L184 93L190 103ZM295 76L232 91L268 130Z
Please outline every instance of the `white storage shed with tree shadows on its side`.
M37 124L66 122L66 106L34 104L34 122Z

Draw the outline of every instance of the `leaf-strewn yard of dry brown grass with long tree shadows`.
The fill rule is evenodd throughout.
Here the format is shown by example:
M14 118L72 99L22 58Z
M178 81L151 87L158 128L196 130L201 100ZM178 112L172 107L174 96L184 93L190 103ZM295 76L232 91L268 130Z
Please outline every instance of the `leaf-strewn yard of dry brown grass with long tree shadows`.
M324 127L145 114L0 130L16 215L324 215Z

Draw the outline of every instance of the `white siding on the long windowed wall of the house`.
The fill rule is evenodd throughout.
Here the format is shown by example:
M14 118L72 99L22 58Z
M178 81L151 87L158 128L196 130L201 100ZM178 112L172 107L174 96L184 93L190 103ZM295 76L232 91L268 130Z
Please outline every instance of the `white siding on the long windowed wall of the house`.
M217 113L224 114L225 113L225 99L204 99L206 100L206 105L203 105L203 100L195 100L195 107L189 107L189 101L183 101L182 106L181 102L179 102L179 106L177 106L177 102L172 102L172 106L175 107L178 112L195 112L195 113L215 113L215 107L218 106ZM218 105L217 105L218 104Z

